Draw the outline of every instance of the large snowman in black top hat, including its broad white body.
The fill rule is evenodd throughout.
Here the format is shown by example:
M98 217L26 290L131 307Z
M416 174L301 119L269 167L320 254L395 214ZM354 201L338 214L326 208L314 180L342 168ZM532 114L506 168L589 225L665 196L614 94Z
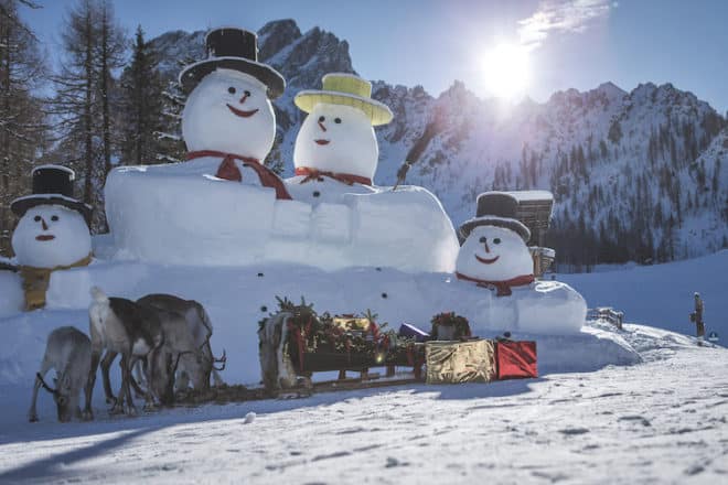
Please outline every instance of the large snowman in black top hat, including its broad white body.
M259 261L283 182L264 161L276 133L271 100L286 86L258 62L255 33L210 31L207 58L185 67L180 84L186 161L120 166L106 182L106 214L117 256L163 263Z

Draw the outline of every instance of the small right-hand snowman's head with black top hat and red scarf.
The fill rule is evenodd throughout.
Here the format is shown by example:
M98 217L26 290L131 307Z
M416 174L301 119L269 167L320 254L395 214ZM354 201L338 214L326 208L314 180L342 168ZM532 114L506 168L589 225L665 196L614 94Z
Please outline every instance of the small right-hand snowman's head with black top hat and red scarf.
M511 295L511 288L534 281L534 262L526 247L531 231L515 218L517 207L516 198L502 192L478 197L477 217L467 220L459 231L459 279L494 287L497 297Z

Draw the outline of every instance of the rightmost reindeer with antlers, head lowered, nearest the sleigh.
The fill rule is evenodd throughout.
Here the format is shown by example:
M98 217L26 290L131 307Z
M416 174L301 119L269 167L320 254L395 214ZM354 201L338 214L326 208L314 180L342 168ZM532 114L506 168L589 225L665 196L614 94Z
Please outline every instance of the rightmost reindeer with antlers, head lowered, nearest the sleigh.
M192 378L192 386L195 389L207 390L210 388L211 375L215 381L215 386L224 384L218 371L225 369L227 357L225 351L223 351L221 358L216 358L212 353L210 345L210 337L213 333L212 322L202 304L194 300L183 300L173 294L163 293L148 294L137 300L137 303L153 306L165 312L176 313L182 315L186 321L194 345L201 351L201 354L195 352L193 354L186 353L182 355L179 378L176 380L176 387L179 389L186 389L189 380ZM184 349L184 346L178 347L178 351L183 352ZM216 363L222 364L222 366L215 367Z

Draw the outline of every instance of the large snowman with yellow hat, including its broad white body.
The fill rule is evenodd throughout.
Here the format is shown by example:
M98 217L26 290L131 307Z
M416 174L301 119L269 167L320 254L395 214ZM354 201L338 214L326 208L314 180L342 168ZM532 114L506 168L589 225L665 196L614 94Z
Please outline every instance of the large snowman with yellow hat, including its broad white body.
M459 246L438 198L422 187L373 183L379 158L374 127L393 115L371 96L367 80L331 73L321 90L295 98L308 116L293 148L296 176L286 185L296 203L310 207L308 255L336 266L450 271Z

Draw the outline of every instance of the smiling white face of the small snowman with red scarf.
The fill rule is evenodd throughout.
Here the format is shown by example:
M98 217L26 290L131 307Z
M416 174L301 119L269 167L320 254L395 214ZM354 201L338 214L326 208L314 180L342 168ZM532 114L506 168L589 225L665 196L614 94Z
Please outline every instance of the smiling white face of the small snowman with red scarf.
M463 242L456 270L485 281L510 280L534 272L525 242L515 231L496 226L478 226Z

